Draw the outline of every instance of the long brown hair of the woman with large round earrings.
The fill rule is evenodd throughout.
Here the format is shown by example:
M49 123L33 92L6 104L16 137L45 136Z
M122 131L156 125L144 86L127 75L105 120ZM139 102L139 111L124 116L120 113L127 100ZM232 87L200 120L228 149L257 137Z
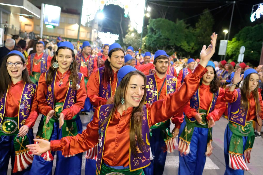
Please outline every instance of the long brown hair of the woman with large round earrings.
M52 64L54 62L57 62L57 56L58 56L58 51L59 49L69 49L72 52L72 58L73 58L73 62L71 63L72 68L70 69L70 76L69 76L69 80L68 82L71 80L72 81L72 88L74 90L77 90L77 84L79 83L79 76L78 76L78 71L77 71L77 61L75 59L75 54L74 51L72 49L70 49L69 47L59 47L58 50L56 51L56 54L53 56L52 60L51 60L51 66L49 67L48 70L48 75L47 75L47 79L46 79L46 83L47 84L51 84L54 78L54 74L57 72L58 68L54 68L52 66Z

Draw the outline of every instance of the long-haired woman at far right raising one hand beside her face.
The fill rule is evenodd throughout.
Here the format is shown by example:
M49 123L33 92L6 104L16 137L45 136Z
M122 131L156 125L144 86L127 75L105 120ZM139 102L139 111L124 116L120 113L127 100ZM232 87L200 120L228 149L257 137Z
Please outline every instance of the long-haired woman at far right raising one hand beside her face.
M249 170L246 163L249 163L250 152L255 140L252 121L263 119L263 102L258 92L259 75L255 69L247 69L244 75L240 76L241 69L235 71L230 88L226 89L224 102L228 102L228 119L224 137L224 153L227 174L244 174ZM242 80L240 89L235 89ZM260 119L261 118L261 119Z

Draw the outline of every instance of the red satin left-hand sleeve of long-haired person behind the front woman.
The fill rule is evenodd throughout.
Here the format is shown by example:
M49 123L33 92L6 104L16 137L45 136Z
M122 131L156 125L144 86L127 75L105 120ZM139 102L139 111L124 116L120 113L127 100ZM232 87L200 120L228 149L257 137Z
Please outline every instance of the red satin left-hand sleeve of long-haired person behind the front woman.
M87 94L90 103L95 107L104 105L107 99L99 96L99 70L92 72L87 83Z

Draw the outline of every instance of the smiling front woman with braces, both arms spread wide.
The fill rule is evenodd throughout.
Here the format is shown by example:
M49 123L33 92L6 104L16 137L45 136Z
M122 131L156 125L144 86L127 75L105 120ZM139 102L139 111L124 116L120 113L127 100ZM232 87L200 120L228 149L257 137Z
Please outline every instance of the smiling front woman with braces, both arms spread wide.
M149 127L165 121L188 103L207 71L206 64L215 52L217 35L200 53L201 61L175 93L152 105L144 104L146 78L134 67L124 66L118 71L120 82L114 104L97 107L87 129L74 137L64 137L51 142L36 139L38 144L27 145L34 153L49 150L62 151L62 155L84 152L98 143L97 174L144 174L142 168L150 164Z

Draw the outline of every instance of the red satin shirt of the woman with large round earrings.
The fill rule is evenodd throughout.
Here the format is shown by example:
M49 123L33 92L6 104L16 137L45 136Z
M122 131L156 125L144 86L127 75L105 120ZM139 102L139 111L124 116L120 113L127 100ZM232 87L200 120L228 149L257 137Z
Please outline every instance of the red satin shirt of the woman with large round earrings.
M62 80L63 84L61 84L61 86L59 86L59 81L60 81L59 76L61 78L65 76ZM54 98L55 98L54 102L64 103L65 97L68 91L68 86L69 86L69 76L70 76L70 70L68 70L67 72L64 72L63 75L62 73L58 71L57 78L55 81L55 86L54 86ZM78 114L79 111L83 109L84 107L85 99L87 98L84 78L81 79L79 86L80 88L78 89L77 94L76 94L77 100L75 104L72 107L64 109L62 111L62 113L65 116L64 118L65 120L72 119L72 117ZM44 114L45 116L47 116L50 110L53 110L47 104L47 100L46 100L47 90L48 89L47 89L47 84L45 81L45 73L42 73L38 81L38 94L39 95L37 96L37 101L38 101L39 112Z

